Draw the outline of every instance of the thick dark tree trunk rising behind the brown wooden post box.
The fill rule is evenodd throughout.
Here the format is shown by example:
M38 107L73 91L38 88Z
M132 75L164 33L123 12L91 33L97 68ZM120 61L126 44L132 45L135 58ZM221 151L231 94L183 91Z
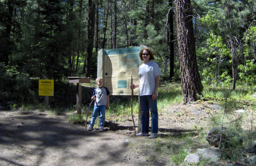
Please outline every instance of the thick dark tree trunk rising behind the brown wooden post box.
M88 25L87 25L87 54L85 62L85 76L90 77L90 67L93 50L93 39L94 39L94 27L95 27L95 2L89 0L89 12L88 12Z

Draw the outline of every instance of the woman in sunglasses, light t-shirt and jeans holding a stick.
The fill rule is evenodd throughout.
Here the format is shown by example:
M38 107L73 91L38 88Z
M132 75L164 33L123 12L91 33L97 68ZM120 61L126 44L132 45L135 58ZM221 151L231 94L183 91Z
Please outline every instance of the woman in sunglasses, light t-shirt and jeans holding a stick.
M131 89L139 87L140 109L141 109L141 132L136 136L158 137L158 112L157 112L157 90L160 79L160 69L154 60L151 49L140 50L140 59L144 63L139 67L139 83L132 84ZM151 112L151 135L149 132L149 111Z

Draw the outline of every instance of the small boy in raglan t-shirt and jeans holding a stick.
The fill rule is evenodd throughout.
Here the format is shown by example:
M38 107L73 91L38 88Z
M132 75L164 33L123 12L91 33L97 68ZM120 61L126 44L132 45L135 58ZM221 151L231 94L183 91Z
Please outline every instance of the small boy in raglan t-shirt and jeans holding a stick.
M95 99L96 100L94 102L92 119L91 119L91 123L90 123L88 131L93 130L94 122L98 116L98 112L100 112L99 132L103 132L104 131L104 122L105 122L105 110L106 110L106 107L109 107L109 96L108 95L110 93L109 93L107 87L103 87L103 78L102 77L98 77L96 79L96 84L97 84L97 88L95 88L93 90L93 94L92 94L92 100L95 100Z

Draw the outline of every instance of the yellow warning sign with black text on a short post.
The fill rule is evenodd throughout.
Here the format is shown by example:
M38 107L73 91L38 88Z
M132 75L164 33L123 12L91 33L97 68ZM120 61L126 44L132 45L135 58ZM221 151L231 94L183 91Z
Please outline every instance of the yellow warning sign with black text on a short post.
M54 94L54 80L53 79L39 79L39 96L53 96Z

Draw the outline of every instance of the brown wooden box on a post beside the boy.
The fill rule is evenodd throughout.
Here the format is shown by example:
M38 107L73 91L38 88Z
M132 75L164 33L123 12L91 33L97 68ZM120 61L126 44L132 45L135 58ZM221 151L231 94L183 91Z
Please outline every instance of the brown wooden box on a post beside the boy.
M85 77L68 77L68 83L76 83L76 113L82 114L82 83L90 83L90 78Z

